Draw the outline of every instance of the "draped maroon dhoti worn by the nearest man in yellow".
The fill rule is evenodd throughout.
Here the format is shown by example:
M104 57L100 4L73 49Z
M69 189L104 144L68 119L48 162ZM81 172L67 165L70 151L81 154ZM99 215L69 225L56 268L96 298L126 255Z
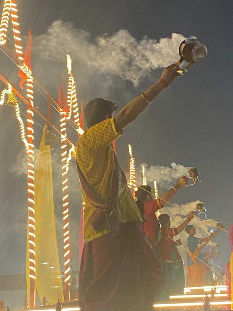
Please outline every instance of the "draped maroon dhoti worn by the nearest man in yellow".
M85 311L147 311L162 284L162 268L144 239L143 224L85 243L79 301Z

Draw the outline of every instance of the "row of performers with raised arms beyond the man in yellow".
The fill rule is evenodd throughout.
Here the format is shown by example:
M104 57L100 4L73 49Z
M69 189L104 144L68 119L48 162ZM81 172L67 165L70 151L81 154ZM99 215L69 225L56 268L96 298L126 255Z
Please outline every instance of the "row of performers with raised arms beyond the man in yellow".
M156 297L157 301L167 301L170 295L182 294L185 287L183 260L177 249L177 246L182 243L180 239L174 241L174 236L183 230L187 232L187 285L196 287L214 284L211 267L208 264L208 260L213 256L214 248L209 254L205 254L205 258L200 250L218 234L218 231L216 230L205 238L195 237L196 230L193 225L189 225L195 216L195 211L191 211L177 228L171 228L169 215L161 214L158 218L156 216L156 212L170 201L178 189L187 182L187 177L182 176L178 183L157 200L153 199L149 185L141 185L136 192L137 205L144 216L145 239L163 267L163 283Z

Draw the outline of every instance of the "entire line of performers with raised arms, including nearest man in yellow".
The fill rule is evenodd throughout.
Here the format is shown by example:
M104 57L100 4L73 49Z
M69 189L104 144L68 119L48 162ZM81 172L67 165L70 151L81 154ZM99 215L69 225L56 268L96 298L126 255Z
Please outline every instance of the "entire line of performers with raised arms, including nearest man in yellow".
M189 285L204 283L199 250L216 233L204 239L195 237L195 228L189 225L194 212L177 228L170 228L169 215L158 219L155 215L187 183L186 177L158 200L153 200L149 186L142 186L136 203L112 147L123 128L180 75L177 70L174 64L165 68L153 86L118 113L117 104L103 98L85 106L87 130L78 140L76 158L85 201L79 276L79 302L84 311L148 311L155 300L182 293L180 240L174 242L174 236L184 229Z

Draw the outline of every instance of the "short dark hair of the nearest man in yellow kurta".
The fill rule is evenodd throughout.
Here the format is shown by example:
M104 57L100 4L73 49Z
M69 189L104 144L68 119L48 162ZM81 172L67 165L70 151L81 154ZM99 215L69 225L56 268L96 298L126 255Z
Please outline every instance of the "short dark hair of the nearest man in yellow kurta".
M99 97L90 100L84 108L87 127L90 128L91 126L105 120L106 115L112 115L113 111L116 109L117 104L104 98Z

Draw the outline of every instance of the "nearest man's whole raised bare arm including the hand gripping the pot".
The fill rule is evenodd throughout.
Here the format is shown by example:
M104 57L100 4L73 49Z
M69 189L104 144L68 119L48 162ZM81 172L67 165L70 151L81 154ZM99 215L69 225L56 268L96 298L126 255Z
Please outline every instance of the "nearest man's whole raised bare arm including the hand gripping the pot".
M180 74L177 72L177 65L172 64L163 70L161 78L146 91L131 100L118 114L115 115L115 127L120 132L126 125L133 122L139 114L148 106L148 104Z

